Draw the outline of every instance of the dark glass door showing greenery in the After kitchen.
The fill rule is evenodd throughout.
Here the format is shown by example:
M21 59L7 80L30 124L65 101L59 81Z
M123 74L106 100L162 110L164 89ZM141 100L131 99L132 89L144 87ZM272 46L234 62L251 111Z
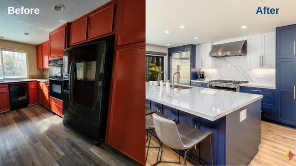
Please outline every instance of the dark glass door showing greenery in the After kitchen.
M146 81L156 81L158 73L164 70L163 66L163 57L146 55ZM161 79L163 79L163 74Z

